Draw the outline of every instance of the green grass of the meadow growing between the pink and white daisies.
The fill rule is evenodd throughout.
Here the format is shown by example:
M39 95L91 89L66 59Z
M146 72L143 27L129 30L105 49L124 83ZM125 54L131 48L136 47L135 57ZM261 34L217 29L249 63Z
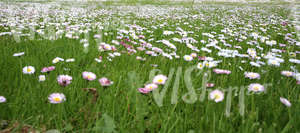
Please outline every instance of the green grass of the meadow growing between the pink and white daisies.
M109 5L109 4L108 4ZM27 7L30 7L30 4ZM21 8L16 6L17 8ZM27 8L25 6L25 8ZM44 6L45 7L45 6ZM91 5L83 8L89 9ZM120 6L121 7L121 6ZM284 39L284 35L294 32L293 26L282 26L280 20L288 19L289 9L284 6L267 6L260 5L253 6L236 6L222 7L222 5L197 5L195 8L182 8L181 5L164 5L154 6L159 10L168 7L177 7L179 10L166 9L161 11L161 16L152 15L150 17L139 17L137 11L134 9L127 12L126 9L117 8L115 6L99 6L95 9L91 8L90 12L86 12L92 16L84 16L84 12L76 14L79 17L85 17L91 20L91 23L127 20L126 23L139 25L146 28L141 33L135 30L136 34L143 34L147 42L153 46L157 46L165 51L169 49L162 43L156 40L171 40L173 37L180 38L178 34L164 36L163 31L175 31L177 27L181 27L185 31L193 31L188 34L189 37L194 38L198 43L194 46L198 48L204 47L205 44L200 43L201 40L209 40L209 37L203 36L202 33L216 32L215 36L224 34L221 32L224 28L232 28L238 30L246 27L246 24L253 26L252 31L246 31L249 36L252 32L258 32L262 36L270 35L270 40L276 40L278 43L289 44ZM7 8L7 7L4 7ZM45 7L46 8L46 7ZM117 8L117 9L116 9ZM139 11L142 12L141 7ZM53 10L60 8L53 7ZM93 14L94 11L105 9L115 14L109 15L105 13ZM42 10L42 9L37 9ZM70 11L68 6L61 7L60 10ZM24 10L26 11L26 10ZM116 11L119 11L116 13ZM151 13L153 10L149 11ZM169 12L168 12L169 11ZM155 13L155 11L153 11ZM70 14L69 14L70 13ZM72 18L72 12L62 14L62 17ZM124 14L122 14L124 13ZM5 12L1 11L1 14ZM258 14L258 15L257 15ZM7 14L5 14L7 15ZM76 16L75 15L75 16ZM93 16L95 15L95 16ZM167 15L182 16L179 18L170 18ZM185 16L187 15L187 16ZM204 19L192 19L194 15L203 15ZM275 17L270 17L270 16ZM28 17L29 15L24 15ZM12 16L7 16L12 17ZM21 19L22 16L20 16ZM44 19L43 16L38 18ZM59 16L50 16L51 20L60 18ZM107 18L111 18L107 20ZM236 19L235 19L236 18ZM78 24L78 22L88 23L84 19L77 19L78 21L71 21L70 24ZM273 19L274 24L260 26L259 24ZM264 21L261 21L264 20ZM68 20L66 20L68 21ZM5 23L5 19L0 20ZM40 21L38 21L40 22ZM184 24L188 22L188 24ZM242 22L242 23L241 23ZM164 24L164 26L160 26ZM219 25L211 25L218 23ZM233 25L233 26L230 26ZM107 26L107 25L106 25ZM152 26L156 26L155 29ZM112 26L114 27L114 26ZM200 29L197 29L199 27ZM260 27L268 29L267 32L259 30ZM102 34L102 42L111 44L112 40L116 40L119 28L129 29L128 26L118 28L107 28ZM249 28L251 29L251 28ZM147 32L151 31L151 32ZM1 27L2 32L10 31L10 28L5 29ZM113 58L113 61L108 61L108 52L99 52L98 45L93 38L95 34L99 34L99 29L94 28L90 32L88 52L84 52L83 46L79 39L69 39L62 37L57 40L47 40L35 33L33 40L27 37L22 37L21 42L16 42L12 36L5 35L0 37L0 88L2 89L0 95L7 98L6 103L0 103L0 120L2 124L0 127L3 132L21 132L21 131L41 131L45 132L50 129L57 129L61 132L297 132L299 131L299 101L300 90L299 85L296 85L294 78L287 78L280 74L282 70L290 70L291 66L295 66L299 70L298 64L288 62L289 58L299 59L299 55L291 57L290 52L299 51L299 47L295 45L288 45L287 47L273 46L270 47L265 43L260 43L264 48L260 53L266 54L272 48L285 49L287 52L282 53L282 58L285 63L280 67L263 65L262 67L254 67L249 65L251 61L249 58L224 58L217 56L217 49L211 48L212 53L200 51L197 54L200 56L214 57L216 60L222 60L217 68L230 70L230 75L217 75L212 73L209 83L214 83L215 87L207 88L206 97L200 101L200 95L203 93L200 88L203 86L203 73L197 75L200 70L192 71L190 78L195 89L197 100L193 103L187 103L184 97L189 94L191 87L187 86L186 71L191 66L195 66L198 60L191 62L185 61L183 58L169 60L165 57L157 56L151 57L144 52L138 51L136 54L127 54L124 47L117 46L118 52L121 52L120 57ZM240 31L243 31L240 29ZM24 32L28 32L25 29ZM104 33L109 33L104 35ZM282 33L278 35L277 33ZM130 39L132 37L128 35ZM236 37L225 34L226 42L231 45L239 45L242 47L240 53L246 53L248 48L255 48L253 45L247 44L253 40L248 37L242 42L235 40ZM83 35L80 36L81 38ZM153 38L154 41L151 41ZM297 37L293 37L297 38ZM134 40L134 39L132 39ZM219 40L219 39L218 39ZM232 41L230 41L232 40ZM120 41L120 40L119 40ZM135 40L138 42L138 40ZM298 40L299 41L299 40ZM134 45L135 48L138 45ZM190 54L194 51L187 48L184 44L172 42L177 47L177 55L181 57ZM222 48L228 48L222 43L218 44ZM24 56L13 57L17 52L25 52ZM125 51L125 53L122 53ZM103 61L98 63L94 58L103 56ZM136 60L136 56L146 57L146 61ZM52 60L55 57L64 59L74 58L75 62L59 62L53 64ZM241 63L245 60L246 63ZM265 59L262 61L266 62ZM157 64L153 67L152 64ZM33 75L25 75L22 73L24 66L34 66L36 73ZM45 66L55 65L56 69L46 75L46 81L39 82L38 76L42 74L40 70ZM241 66L244 70L240 70ZM67 68L67 69L66 69ZM182 68L182 72L180 69ZM157 97L152 93L159 93L158 91L141 94L137 88L143 87L145 83L151 81L149 75L153 69L159 69L161 74L172 75L170 84L166 88L160 86L157 90L162 91L166 89L166 95L163 97L162 106L157 105ZM203 71L210 71L212 69L205 69ZM100 77L107 77L114 81L110 87L101 87L98 81L85 81L81 74L83 71L94 72L97 79ZM258 72L261 78L257 80L250 80L244 77L244 71ZM61 87L56 78L58 75L68 74L73 77L73 81L66 87ZM188 75L187 75L188 76ZM177 81L175 81L177 77ZM266 87L267 91L260 94L247 95L247 86L251 83L271 84ZM174 84L179 84L178 87L178 102L172 104L172 93L174 91ZM241 91L242 86L245 86L244 92ZM236 87L237 89L229 93L228 88ZM98 98L95 100L94 93L85 91L82 88L96 88ZM225 92L225 99L220 103L215 103L209 100L207 94L209 91L219 88ZM176 90L176 89L175 89ZM50 104L48 102L49 94L53 92L60 92L65 94L67 100L61 104ZM231 94L228 95L228 94ZM243 97L242 95L245 95ZM290 108L284 106L279 101L279 97L285 97L292 103ZM230 98L230 99L229 99ZM243 99L244 98L244 99ZM240 102L244 101L244 104ZM225 116L226 107L231 104L230 116ZM245 107L244 115L240 114L241 105ZM7 124L3 124L7 122Z

